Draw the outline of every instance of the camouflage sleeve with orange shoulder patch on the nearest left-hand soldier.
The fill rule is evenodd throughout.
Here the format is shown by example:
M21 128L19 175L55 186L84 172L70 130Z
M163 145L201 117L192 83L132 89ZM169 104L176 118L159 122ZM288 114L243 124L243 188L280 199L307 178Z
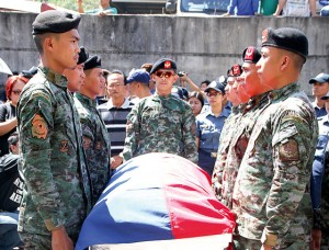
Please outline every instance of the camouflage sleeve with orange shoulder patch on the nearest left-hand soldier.
M50 134L54 129L52 116L54 106L50 96L42 91L34 91L20 100L18 110L22 173L29 193L46 227L59 227L65 224L61 212L63 201L54 182L50 168ZM52 226L49 226L52 225ZM50 227L50 228L49 228Z

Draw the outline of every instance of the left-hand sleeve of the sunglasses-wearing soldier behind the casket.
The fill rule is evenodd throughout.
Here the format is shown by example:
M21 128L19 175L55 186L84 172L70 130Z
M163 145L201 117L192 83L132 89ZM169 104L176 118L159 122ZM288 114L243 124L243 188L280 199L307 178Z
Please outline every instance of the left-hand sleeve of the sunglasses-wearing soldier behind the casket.
M126 126L126 138L123 150L123 160L127 161L132 159L137 150L139 141L139 120L138 120L138 109L139 104L135 105L131 113L127 115L127 126Z

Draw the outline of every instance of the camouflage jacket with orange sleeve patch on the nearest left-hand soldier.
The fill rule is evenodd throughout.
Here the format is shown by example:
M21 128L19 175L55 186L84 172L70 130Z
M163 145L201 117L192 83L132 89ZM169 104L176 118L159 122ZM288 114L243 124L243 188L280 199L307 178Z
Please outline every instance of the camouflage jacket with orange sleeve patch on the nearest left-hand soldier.
M41 68L24 87L18 103L26 192L19 231L50 235L65 226L77 234L91 207L82 133L67 79Z

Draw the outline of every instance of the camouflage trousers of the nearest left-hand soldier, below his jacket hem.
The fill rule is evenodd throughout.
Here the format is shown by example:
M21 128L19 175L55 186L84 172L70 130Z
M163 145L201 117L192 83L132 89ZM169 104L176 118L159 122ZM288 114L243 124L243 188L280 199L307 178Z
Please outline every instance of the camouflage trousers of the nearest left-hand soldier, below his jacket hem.
M37 235L19 232L21 240L24 243L24 250L52 250L52 236L50 235ZM69 236L76 243L78 235Z

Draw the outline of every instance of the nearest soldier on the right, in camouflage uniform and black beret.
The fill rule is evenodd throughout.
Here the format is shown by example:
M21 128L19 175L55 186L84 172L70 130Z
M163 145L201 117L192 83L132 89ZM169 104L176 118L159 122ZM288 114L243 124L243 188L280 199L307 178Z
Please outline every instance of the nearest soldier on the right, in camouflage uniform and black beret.
M257 64L270 104L256 124L232 194L237 249L308 249L311 203L307 193L317 140L315 112L296 81L308 41L296 29L266 29Z

